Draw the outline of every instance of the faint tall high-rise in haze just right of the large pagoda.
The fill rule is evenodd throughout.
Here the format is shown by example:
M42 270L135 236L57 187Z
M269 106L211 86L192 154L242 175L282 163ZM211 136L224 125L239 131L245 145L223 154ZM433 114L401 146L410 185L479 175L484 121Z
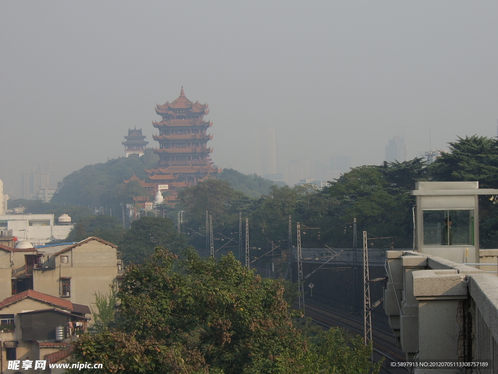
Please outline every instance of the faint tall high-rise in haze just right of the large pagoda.
M254 129L254 171L262 177L277 173L275 129Z

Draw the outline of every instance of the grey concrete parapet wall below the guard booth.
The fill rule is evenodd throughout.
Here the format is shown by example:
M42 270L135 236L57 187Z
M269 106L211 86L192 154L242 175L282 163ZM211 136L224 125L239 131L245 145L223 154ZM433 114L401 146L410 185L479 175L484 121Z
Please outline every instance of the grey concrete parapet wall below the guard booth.
M498 250L483 254L492 258ZM421 361L489 357L498 366L498 277L413 251L386 251L386 259L384 311L407 359L417 352ZM478 333L486 344L472 341Z

